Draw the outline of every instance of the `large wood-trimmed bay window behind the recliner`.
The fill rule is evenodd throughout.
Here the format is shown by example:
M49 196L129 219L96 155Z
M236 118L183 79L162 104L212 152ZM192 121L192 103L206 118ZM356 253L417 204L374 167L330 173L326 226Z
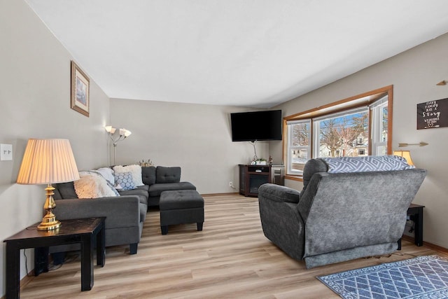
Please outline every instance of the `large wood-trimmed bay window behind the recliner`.
M319 157L391 153L392 86L286 117L286 175Z

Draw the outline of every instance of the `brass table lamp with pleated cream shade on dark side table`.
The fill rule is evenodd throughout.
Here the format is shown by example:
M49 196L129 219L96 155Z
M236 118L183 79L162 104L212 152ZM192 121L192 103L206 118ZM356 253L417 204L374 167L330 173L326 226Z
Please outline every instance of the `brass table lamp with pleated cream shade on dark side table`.
M52 183L65 183L79 179L78 167L71 151L68 139L29 139L17 183L25 185L47 184L45 188L47 199L43 209L47 214L43 216L38 230L54 230L61 224L56 220L52 210L56 204L53 196L55 188Z

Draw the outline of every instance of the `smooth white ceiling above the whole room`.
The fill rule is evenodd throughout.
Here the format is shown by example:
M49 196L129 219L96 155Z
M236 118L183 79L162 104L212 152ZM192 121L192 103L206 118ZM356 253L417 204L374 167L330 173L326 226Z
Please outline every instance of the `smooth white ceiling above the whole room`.
M271 108L448 32L446 0L25 0L111 98Z

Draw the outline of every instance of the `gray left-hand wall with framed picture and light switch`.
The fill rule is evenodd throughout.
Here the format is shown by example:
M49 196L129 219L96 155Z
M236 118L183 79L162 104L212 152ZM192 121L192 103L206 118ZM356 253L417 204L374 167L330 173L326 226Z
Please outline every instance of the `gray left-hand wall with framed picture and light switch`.
M0 161L0 240L41 221L45 186L15 183L29 138L66 138L79 169L106 165L109 98L90 78L90 117L70 109L70 53L25 1L0 1L0 143L13 145L13 161ZM80 65L83 68L82 65ZM87 72L87 70L84 70ZM57 214L57 212L55 212ZM0 294L5 293L1 242ZM34 256L26 251L28 270ZM21 254L21 276L25 259Z

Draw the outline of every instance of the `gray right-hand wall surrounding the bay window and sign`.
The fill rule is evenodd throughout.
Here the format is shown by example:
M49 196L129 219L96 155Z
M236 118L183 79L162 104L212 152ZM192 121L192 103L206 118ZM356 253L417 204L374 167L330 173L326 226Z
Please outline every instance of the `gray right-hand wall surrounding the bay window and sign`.
M428 169L423 186L414 203L423 204L423 239L426 242L448 248L448 127L416 130L416 104L448 97L448 85L436 83L448 81L448 34L407 50L405 53L363 69L307 95L282 104L286 116L306 111L323 104L345 99L363 92L393 85L393 150L398 143L419 143L428 146L402 148L411 151L417 167ZM281 145L271 144L269 151L281 157ZM302 188L300 183L287 181L289 186ZM381 186L378 186L381 190Z

